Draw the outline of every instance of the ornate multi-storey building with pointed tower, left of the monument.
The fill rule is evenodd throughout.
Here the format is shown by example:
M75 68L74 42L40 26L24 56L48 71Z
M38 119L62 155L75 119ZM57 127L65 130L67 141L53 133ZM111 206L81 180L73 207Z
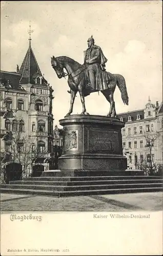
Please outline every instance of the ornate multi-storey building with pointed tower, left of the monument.
M42 75L29 39L21 68L1 71L1 168L24 173L51 168L53 89Z

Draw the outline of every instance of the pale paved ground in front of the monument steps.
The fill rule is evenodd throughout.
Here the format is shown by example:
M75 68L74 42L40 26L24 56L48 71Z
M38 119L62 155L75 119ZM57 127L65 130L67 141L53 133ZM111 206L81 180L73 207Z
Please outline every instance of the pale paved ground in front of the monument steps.
M6 211L132 211L162 210L162 192L55 198L1 194Z

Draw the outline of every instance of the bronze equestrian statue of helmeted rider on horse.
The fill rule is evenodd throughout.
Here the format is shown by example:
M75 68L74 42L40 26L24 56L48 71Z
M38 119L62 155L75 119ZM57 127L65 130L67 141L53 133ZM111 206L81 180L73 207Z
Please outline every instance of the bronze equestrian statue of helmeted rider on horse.
M114 91L118 86L121 98L124 104L128 105L129 97L126 89L125 78L118 74L111 74L105 69L107 58L99 46L94 45L94 39L91 36L88 39L88 49L84 51L84 64L80 65L77 61L67 56L51 57L51 65L55 70L57 77L68 76L70 87L71 104L70 110L66 116L73 111L73 103L76 93L79 92L83 111L81 115L89 115L86 111L85 97L93 92L101 92L110 103L108 117L116 117ZM67 73L64 72L64 69Z

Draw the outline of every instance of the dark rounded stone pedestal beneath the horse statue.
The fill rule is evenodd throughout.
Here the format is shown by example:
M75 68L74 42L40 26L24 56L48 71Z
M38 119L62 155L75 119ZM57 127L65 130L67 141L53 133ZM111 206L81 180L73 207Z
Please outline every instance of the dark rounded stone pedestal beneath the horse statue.
M127 169L123 156L121 128L116 118L95 115L71 115L59 120L65 129L65 152L58 159L62 172L118 172Z

